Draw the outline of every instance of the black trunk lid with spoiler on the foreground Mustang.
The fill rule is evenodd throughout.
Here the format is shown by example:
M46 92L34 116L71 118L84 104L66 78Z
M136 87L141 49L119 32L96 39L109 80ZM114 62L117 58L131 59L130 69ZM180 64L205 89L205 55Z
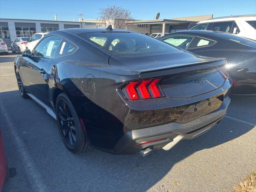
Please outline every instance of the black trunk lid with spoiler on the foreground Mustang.
M189 98L220 88L225 81L219 68L224 58L202 57L177 50L170 54L111 56L111 66L137 73L141 79L161 78L164 95L170 98Z

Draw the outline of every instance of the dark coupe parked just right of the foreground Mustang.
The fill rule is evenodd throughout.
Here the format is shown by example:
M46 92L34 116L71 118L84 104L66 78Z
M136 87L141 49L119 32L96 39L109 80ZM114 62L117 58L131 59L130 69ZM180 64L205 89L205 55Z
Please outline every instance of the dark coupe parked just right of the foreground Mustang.
M234 34L185 30L168 34L160 40L192 53L224 57L226 70L234 81L234 94L256 94L256 41Z

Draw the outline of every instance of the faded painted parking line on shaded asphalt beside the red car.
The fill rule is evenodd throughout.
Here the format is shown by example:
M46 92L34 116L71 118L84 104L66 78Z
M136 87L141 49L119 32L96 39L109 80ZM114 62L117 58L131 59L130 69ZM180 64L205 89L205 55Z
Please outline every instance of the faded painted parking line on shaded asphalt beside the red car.
M28 180L35 192L50 192L47 186L44 184L42 176L36 168L36 164L34 163L30 153L27 150L24 141L19 135L19 131L16 126L12 123L12 120L9 118L10 115L4 109L2 102L0 102L0 110L1 114L6 119L8 123L8 130L10 130L10 135L14 141L14 146L22 160L22 164L26 170L26 174L28 176Z

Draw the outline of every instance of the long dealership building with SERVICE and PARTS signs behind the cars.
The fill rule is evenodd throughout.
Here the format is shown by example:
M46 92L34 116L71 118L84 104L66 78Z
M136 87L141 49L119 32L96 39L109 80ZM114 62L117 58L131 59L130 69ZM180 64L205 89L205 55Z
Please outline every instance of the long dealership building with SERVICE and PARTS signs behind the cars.
M185 30L194 26L197 22L212 18L211 15L155 19L155 20L115 20L115 24L124 23L121 28L150 35L152 33L170 33L177 30ZM33 19L7 19L0 18L0 38L10 47L17 37L31 37L38 32L51 32L68 28L106 28L109 22L105 19L81 20L81 22L58 20L33 20ZM114 25L115 25L114 24Z

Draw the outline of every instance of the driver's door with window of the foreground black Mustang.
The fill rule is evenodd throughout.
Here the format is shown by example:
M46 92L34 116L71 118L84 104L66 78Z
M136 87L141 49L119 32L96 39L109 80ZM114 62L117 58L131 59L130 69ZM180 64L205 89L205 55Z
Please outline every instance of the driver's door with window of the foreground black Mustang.
M48 80L51 72L50 64L62 38L48 36L44 38L32 52L32 57L25 57L24 77L28 92L44 104L50 106Z

